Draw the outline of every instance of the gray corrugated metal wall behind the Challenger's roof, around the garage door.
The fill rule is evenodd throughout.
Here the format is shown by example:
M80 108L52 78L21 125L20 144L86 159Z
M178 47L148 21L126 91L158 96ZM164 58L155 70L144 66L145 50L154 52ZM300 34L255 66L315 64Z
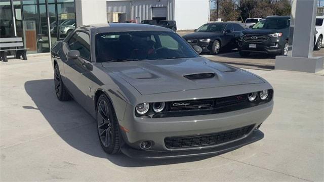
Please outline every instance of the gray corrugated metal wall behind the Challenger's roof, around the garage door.
M139 23L142 20L152 19L152 8L166 7L167 20L174 20L174 1L175 0L108 0L107 13L124 13L123 21L137 20L137 22Z

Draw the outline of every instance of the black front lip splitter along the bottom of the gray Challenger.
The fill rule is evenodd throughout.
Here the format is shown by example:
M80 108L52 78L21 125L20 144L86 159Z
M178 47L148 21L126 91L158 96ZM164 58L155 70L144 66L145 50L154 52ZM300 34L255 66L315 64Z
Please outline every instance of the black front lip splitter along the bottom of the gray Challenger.
M172 159L181 157L195 157L195 156L206 156L206 155L220 155L232 150L238 149L245 145L257 142L263 139L264 134L260 130L253 131L248 137L229 143L227 145L210 148L210 149L198 149L191 151L148 151L148 150L136 150L127 145L121 147L121 152L131 158L139 159Z

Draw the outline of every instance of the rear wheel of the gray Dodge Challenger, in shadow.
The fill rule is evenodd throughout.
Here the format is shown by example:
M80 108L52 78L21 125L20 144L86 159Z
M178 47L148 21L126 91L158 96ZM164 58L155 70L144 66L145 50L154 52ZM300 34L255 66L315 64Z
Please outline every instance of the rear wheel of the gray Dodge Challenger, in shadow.
M69 101L72 99L62 81L60 69L57 64L54 66L54 86L55 94L59 101Z

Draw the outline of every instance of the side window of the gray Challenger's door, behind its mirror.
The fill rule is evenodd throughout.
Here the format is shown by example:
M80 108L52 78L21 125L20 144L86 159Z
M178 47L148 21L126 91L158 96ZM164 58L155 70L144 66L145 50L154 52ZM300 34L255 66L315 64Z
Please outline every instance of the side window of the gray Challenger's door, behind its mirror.
M74 35L73 35L73 37L74 37ZM69 45L70 45L70 43L69 43ZM83 57L90 61L90 37L89 37L89 35L84 32L77 32L77 36L75 37L75 42L72 45L70 45L70 49L78 50L80 52L80 57Z

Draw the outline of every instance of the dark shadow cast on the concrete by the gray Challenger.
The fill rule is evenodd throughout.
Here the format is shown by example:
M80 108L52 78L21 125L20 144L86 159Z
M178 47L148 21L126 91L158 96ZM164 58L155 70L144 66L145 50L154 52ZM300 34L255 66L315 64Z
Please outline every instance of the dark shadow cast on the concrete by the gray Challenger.
M96 121L74 101L60 102L54 92L54 80L31 80L24 84L26 93L37 107L23 106L24 109L39 110L60 138L76 150L86 154L106 158L123 167L141 167L185 163L204 160L212 156L200 156L164 160L140 160L119 153L106 154L100 146Z

